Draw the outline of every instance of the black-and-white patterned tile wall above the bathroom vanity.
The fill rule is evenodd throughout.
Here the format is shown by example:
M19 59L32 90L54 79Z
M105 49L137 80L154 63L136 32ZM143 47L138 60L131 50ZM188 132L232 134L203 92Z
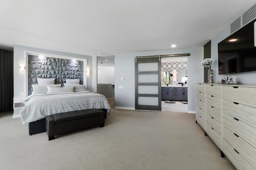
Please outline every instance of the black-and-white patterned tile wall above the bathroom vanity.
M171 84L178 84L178 81L177 81L178 70L188 70L188 62L181 61L181 62L161 63L161 80L163 80L164 70L172 70L173 76L172 76ZM164 84L163 81L161 82L162 84Z

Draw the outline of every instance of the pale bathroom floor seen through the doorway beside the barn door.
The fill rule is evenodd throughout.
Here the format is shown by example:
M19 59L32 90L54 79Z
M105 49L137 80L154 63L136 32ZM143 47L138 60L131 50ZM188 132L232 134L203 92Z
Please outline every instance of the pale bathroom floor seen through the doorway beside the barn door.
M169 102L169 101L168 101ZM172 112L184 112L188 113L188 104L184 104L180 101L175 101L175 103L168 103L162 101L162 111L172 111Z

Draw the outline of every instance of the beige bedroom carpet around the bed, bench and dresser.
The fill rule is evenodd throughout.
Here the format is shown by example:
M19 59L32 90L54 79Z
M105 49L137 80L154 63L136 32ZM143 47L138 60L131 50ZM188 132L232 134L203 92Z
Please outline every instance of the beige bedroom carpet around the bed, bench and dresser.
M0 113L1 170L230 170L230 161L195 123L178 112L112 109L105 127L48 141Z

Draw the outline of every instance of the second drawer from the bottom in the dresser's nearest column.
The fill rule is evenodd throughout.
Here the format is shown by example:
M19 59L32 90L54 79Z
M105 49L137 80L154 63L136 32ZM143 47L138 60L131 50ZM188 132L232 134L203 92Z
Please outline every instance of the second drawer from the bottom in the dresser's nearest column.
M227 127L223 126L222 132L223 138L256 167L256 149Z

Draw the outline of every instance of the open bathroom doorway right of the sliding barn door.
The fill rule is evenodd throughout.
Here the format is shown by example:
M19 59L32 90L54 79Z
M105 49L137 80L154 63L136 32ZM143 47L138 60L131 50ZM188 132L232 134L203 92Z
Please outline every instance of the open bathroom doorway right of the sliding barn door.
M162 111L188 112L188 57L161 58Z

